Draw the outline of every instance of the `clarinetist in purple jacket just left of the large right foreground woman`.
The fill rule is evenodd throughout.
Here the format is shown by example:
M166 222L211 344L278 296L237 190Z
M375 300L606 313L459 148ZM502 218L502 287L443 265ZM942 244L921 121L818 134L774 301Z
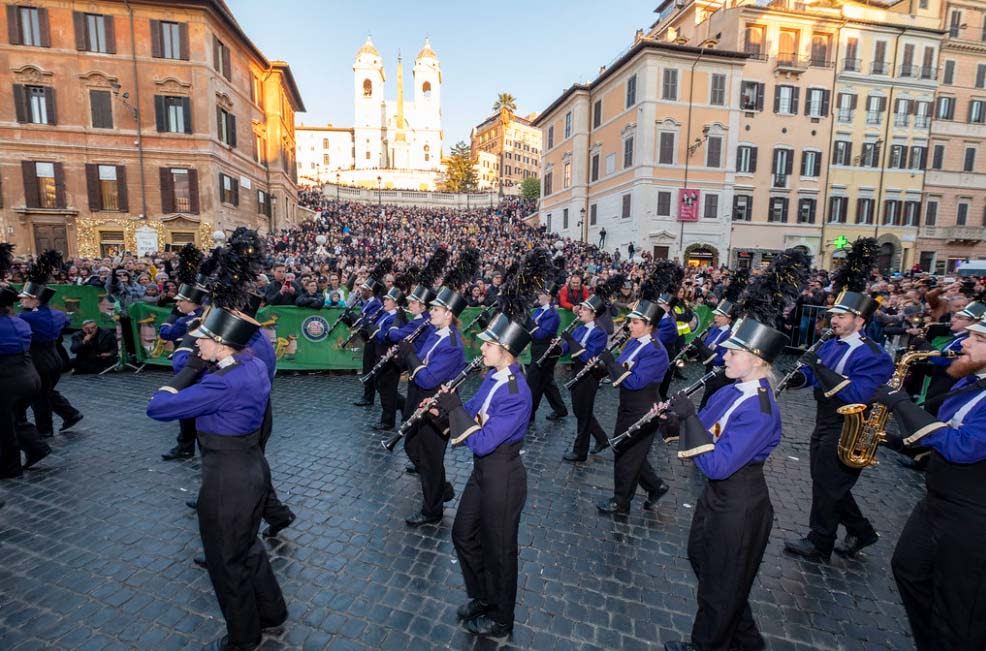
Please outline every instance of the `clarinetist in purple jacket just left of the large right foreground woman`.
M641 296L648 295L647 290L641 288ZM625 431L657 402L658 386L668 370L668 351L652 335L654 324L661 320L663 312L652 298L642 298L627 315L631 339L619 359L614 359L608 350L600 355L613 386L620 389L614 436ZM647 491L644 509L648 511L668 492L668 485L661 481L647 461L657 425L655 422L614 450L613 497L596 506L601 513L629 513L637 484Z

